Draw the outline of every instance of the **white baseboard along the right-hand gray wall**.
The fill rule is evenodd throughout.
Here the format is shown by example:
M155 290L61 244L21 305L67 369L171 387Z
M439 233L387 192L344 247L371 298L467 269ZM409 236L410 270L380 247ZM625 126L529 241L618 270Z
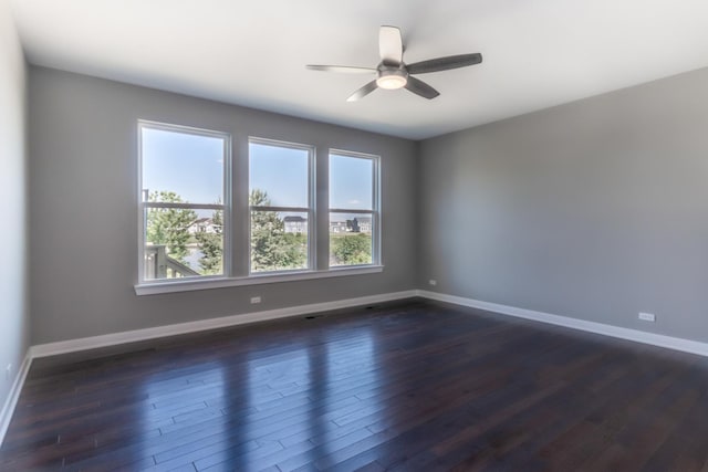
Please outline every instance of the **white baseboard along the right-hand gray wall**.
M571 318L568 316L551 315L550 313L534 312L532 310L517 308L516 306L500 305L497 303L480 302L478 300L465 298L461 296L446 295L426 290L417 291L417 295L423 298L437 300L455 305L468 306L471 308L485 310L502 315L516 316L518 318L532 319L541 323L564 326L621 339L634 340L636 343L650 344L653 346L666 347L681 350L684 353L697 354L708 357L708 344L697 340L683 339L679 337L664 336L660 334L647 333L638 329L623 328L603 323L587 322L584 319Z

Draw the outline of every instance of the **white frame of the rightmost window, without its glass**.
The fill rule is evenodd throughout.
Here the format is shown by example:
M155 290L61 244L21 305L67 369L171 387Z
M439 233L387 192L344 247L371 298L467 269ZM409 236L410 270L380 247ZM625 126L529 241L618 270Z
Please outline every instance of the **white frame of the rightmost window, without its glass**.
M347 269L356 269L356 268L375 268L381 266L382 264L382 254L381 254L381 234L382 234L382 222L381 222L381 156L376 156L373 154L364 154L356 153L352 150L344 149L333 149L331 148L327 153L329 166L332 165L332 155L342 156L342 157L351 157L356 159L368 159L373 162L372 166L372 209L371 210L354 210L354 209L344 209L344 208L332 208L330 207L327 213L327 239L331 240L329 234L329 224L331 221L332 213L350 213L350 214L367 214L372 218L372 262L371 264L357 264L357 265L327 265L331 271L341 271ZM330 169L330 172L332 170ZM329 176L327 176L329 180ZM329 186L332 185L331 181L327 182ZM327 188L329 188L327 186Z

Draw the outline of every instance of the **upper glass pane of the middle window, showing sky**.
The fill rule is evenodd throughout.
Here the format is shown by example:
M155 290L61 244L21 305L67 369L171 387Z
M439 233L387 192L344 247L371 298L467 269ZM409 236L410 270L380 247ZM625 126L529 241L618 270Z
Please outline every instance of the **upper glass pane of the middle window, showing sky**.
M267 201L251 204L309 207L308 149L250 143L249 156L250 193L263 192Z

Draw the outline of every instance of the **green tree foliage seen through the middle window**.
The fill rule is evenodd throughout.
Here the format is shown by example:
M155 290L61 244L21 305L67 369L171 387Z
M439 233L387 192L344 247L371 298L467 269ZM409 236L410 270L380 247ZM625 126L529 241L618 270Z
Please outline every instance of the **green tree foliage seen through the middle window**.
M249 196L251 207L271 204L268 193L254 189ZM302 269L308 263L308 241L304 234L287 233L285 223L275 211L251 211L251 271Z

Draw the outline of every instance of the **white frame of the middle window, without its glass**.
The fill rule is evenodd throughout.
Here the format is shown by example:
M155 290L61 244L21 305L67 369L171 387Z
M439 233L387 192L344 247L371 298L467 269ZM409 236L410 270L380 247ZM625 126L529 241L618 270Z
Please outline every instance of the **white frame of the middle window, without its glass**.
M262 146L271 146L271 147L282 147L284 149L298 149L304 150L308 153L308 207L279 207L279 206L248 206L248 273L249 276L268 276L268 275L278 275L278 274L293 274L293 273L303 273L303 272L312 272L314 268L316 268L316 212L315 212L315 197L314 197L314 178L315 178L315 149L314 146L309 146L304 144L298 143L289 143L277 139L268 139L260 138L254 136L249 136L248 138L248 147L249 147L249 156L248 161L249 166L251 162L250 148L251 144L262 145ZM250 168L249 168L249 182L248 182L248 193L249 198L251 195L251 179L250 179ZM308 266L303 269L285 269L281 271L261 271L253 272L251 268L251 212L252 211L274 211L274 212L293 212L293 213L306 213L308 214Z

